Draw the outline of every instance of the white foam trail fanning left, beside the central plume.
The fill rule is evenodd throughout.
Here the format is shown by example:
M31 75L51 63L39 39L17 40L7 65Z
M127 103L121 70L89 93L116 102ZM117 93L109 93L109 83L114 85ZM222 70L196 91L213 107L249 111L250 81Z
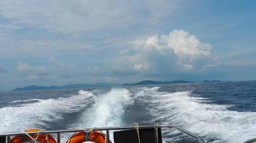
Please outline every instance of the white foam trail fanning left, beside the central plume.
M80 91L70 97L39 99L22 107L0 108L0 132L20 132L30 127L45 127L44 122L58 121L63 113L77 112L93 102L91 92ZM37 100L37 99L30 99Z

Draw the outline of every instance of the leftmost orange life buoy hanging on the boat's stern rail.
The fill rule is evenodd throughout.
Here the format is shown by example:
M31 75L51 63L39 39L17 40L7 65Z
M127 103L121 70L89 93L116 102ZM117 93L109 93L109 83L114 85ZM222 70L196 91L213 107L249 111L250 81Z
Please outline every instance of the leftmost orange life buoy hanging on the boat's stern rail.
M40 132L40 129L26 129L25 132ZM37 137L37 135L33 134L31 135L34 139ZM10 143L23 143L23 142L28 142L32 141L30 137L27 135L17 135L14 138L11 139ZM50 134L40 134L39 137L37 138L37 142L40 143L57 143L55 139L50 135Z

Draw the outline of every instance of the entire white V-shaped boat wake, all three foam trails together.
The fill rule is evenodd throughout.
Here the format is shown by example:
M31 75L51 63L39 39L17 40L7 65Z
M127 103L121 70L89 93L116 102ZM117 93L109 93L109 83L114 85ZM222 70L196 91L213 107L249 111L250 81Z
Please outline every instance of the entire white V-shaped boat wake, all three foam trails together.
M57 123L59 127L65 126L62 129L125 126L130 124L127 124L124 114L130 109L131 116L132 113L138 114L141 110L136 109L140 106L148 111L147 114L139 113L147 116L143 117L148 119L147 124L174 124L204 137L206 142L244 142L255 137L255 112L232 111L229 109L232 105L212 104L211 99L192 92L170 93L159 89L130 87L98 94L81 90L78 94L58 99L14 101L12 104L18 106L10 104L0 108L0 132L20 132L35 127L54 129ZM175 136L165 139L165 142L183 138L178 132L164 132L164 135L170 136L170 133Z

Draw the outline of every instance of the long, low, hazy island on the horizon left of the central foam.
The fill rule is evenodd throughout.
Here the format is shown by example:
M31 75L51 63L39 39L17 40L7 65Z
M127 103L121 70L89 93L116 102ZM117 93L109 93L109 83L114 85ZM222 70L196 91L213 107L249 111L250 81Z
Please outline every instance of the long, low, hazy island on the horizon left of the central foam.
M93 87L115 87L121 84L106 84L106 83L97 83L97 84L68 84L63 86L37 86L32 85L28 87L19 87L17 89L13 89L12 91L23 91L23 90L45 90L45 89L76 89L76 88L93 88Z

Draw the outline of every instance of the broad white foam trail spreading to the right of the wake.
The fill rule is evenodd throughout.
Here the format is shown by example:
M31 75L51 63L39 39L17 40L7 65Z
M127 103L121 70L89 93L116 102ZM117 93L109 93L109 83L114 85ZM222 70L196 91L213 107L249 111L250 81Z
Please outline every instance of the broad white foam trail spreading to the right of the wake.
M150 97L145 102L151 102L151 114L162 124L176 124L214 142L244 142L256 136L255 112L230 111L230 105L206 103L191 92L144 92Z

